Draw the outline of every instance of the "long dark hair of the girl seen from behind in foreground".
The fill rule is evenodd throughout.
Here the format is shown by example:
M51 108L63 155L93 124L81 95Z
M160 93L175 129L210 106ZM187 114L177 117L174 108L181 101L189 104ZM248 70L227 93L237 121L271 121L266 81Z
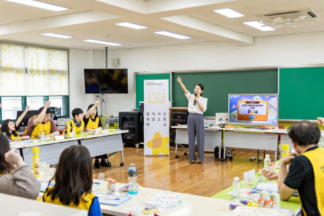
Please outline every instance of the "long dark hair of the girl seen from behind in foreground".
M82 192L89 194L93 183L92 159L88 149L81 145L66 148L52 179L55 179L55 185L48 191L48 196L52 195L52 200L58 196L64 205L71 202L78 205L80 199L83 199Z

